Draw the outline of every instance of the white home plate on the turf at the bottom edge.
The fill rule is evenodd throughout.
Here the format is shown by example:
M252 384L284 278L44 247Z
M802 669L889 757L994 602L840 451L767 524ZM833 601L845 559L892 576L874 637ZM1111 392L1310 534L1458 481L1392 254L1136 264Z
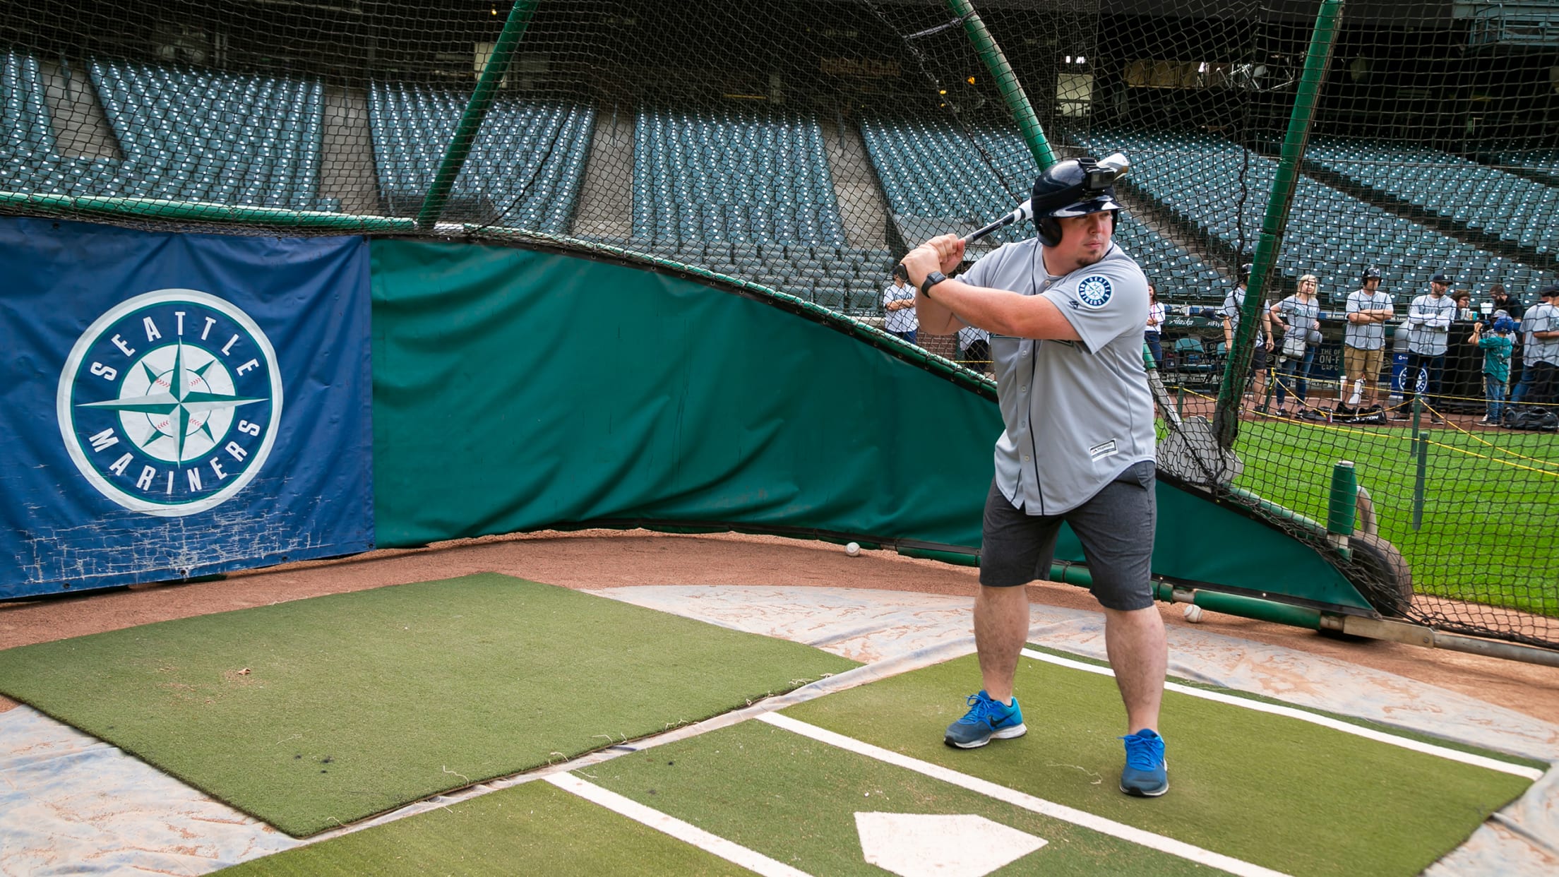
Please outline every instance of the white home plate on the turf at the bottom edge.
M982 877L1045 846L984 816L856 813L868 865L900 877Z

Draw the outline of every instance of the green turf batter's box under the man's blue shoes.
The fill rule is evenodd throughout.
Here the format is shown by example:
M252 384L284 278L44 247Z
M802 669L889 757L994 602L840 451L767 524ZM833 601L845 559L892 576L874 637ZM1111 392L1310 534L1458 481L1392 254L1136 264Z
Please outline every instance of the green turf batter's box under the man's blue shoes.
M1115 680L1024 660L1027 737L957 751L943 729L979 682L973 655L786 715L1288 874L1417 874L1522 794L1522 777L1305 721L1165 693L1169 793L1121 794Z

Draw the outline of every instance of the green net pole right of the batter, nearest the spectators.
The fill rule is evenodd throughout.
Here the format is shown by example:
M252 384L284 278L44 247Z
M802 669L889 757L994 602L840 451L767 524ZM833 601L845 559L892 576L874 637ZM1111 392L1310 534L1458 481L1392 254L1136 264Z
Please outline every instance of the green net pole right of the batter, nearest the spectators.
M1239 398L1244 395L1246 370L1255 353L1257 321L1261 311L1261 289L1267 273L1277 262L1283 242L1283 226L1288 225L1288 209L1294 201L1294 186L1299 183L1299 165L1305 158L1305 142L1316 117L1316 101L1320 84L1331 66L1331 51L1338 42L1338 25L1342 20L1342 0L1322 0L1316 16L1316 30L1310 34L1305 53L1305 72L1294 95L1294 111L1288 119L1288 134L1283 137L1283 156L1278 159L1277 176L1272 179L1272 197L1261 218L1261 236L1252 257L1250 281L1246 287L1246 303L1239 311L1239 331L1235 334L1235 350L1224 365L1224 381L1218 389L1218 409L1213 414L1213 429L1218 443L1230 448L1239 434Z

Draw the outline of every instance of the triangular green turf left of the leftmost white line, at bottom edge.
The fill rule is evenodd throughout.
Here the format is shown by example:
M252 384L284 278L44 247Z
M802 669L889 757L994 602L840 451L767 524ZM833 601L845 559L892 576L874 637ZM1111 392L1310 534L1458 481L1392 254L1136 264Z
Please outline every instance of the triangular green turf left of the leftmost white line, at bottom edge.
M223 877L747 874L544 782L396 819L220 871Z

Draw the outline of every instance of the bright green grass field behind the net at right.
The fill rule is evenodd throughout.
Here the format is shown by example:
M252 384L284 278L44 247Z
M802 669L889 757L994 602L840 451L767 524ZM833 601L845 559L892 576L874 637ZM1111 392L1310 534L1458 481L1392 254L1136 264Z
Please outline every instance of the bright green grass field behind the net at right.
M1433 428L1422 526L1412 527L1417 460L1409 426L1255 421L1239 428L1235 482L1325 521L1336 460L1353 460L1380 532L1412 565L1414 590L1559 616L1559 438Z

